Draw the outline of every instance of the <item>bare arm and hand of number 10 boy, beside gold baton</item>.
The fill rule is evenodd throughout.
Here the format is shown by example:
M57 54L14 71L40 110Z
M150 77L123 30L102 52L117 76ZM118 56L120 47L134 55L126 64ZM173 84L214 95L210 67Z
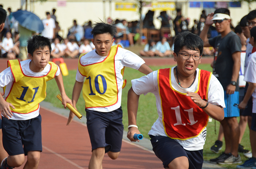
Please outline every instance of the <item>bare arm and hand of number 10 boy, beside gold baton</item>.
M76 81L76 83L74 85L74 88L73 88L72 103L73 103L73 107L75 109L76 109L76 103L79 99L80 93L81 93L82 88L83 88L83 84L84 84L83 82ZM75 114L70 111L70 115L69 115L68 120L67 120L67 126L71 123L71 121L73 120L74 117L75 117Z

